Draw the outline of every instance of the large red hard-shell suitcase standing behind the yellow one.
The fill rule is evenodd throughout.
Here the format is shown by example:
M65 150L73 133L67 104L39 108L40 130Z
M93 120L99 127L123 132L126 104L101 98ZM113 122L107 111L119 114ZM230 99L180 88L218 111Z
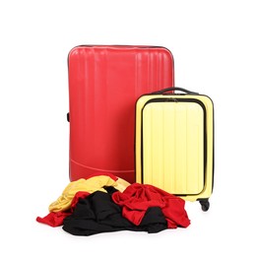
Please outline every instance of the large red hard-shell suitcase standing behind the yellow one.
M70 180L111 172L135 181L135 102L174 84L160 46L81 45L68 55Z

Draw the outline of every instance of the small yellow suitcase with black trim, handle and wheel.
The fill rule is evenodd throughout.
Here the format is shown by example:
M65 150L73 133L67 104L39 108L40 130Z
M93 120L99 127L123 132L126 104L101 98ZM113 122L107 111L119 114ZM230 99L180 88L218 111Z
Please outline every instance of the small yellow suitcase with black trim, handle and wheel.
M182 94L173 94L181 91ZM136 102L136 182L210 207L214 184L214 104L168 88Z

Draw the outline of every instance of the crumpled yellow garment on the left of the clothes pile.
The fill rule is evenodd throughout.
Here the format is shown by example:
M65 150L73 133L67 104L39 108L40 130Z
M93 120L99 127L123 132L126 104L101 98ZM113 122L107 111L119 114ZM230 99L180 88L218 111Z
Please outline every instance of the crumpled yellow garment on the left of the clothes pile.
M104 186L112 186L119 191L123 191L130 183L118 178L114 181L107 175L98 175L89 179L81 178L70 182L62 192L61 196L49 205L49 212L66 211L71 207L72 200L77 192L84 191L94 193L96 191L106 192Z

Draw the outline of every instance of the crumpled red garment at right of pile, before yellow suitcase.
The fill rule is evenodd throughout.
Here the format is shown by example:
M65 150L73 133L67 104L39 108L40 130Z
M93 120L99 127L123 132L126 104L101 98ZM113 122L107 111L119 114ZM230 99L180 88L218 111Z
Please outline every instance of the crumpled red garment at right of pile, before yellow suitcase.
M150 207L160 207L168 228L190 224L184 209L185 201L153 185L133 183L122 193L112 194L112 200L122 207L122 215L133 224L140 224Z

